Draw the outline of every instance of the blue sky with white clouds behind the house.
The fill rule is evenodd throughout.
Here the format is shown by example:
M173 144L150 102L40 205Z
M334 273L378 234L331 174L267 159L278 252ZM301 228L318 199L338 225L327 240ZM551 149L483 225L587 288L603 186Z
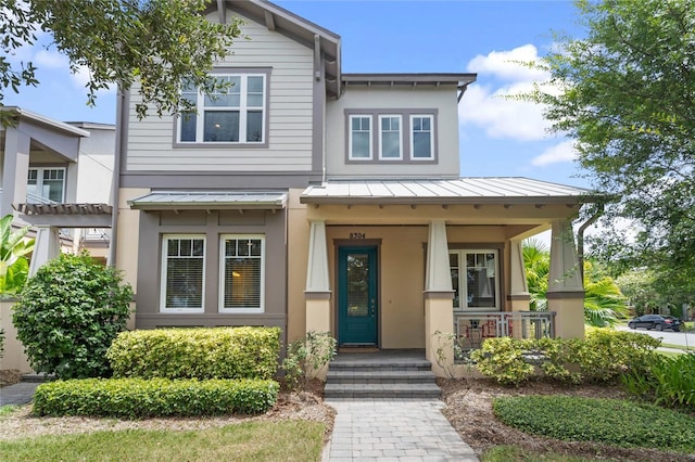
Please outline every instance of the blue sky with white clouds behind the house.
M477 73L459 103L462 176L521 176L586 187L571 142L547 134L542 107L504 99L543 75L531 61L554 46L553 31L580 36L571 1L330 1L276 3L342 37L345 73ZM71 75L54 49L21 50L39 67L38 88L5 93L17 105L59 120L113 123L115 93L86 105L85 74Z

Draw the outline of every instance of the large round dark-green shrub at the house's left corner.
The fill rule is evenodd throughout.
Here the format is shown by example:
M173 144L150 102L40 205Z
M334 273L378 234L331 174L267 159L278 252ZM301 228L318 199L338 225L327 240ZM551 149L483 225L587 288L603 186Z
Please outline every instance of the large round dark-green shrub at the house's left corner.
M106 349L126 330L131 298L121 272L88 254L39 268L12 315L31 368L60 378L111 375Z

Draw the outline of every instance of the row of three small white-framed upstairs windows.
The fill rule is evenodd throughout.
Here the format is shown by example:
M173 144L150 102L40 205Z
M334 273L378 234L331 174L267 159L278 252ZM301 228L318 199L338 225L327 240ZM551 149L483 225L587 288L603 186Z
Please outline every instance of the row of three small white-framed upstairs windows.
M437 110L346 110L345 115L349 163L437 162Z

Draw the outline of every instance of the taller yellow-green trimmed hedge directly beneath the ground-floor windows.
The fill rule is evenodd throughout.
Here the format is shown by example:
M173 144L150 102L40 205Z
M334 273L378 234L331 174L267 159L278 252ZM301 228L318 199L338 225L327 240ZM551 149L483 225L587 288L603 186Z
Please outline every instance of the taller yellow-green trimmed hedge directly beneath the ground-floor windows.
M279 354L279 328L199 328L123 332L106 358L114 377L271 378Z

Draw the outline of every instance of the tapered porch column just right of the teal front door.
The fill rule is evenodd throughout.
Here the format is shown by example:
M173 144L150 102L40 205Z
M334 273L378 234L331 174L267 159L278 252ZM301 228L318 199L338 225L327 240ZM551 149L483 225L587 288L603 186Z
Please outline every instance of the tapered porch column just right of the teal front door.
M444 346L451 345L447 336L454 334L453 299L446 223L444 220L433 220L429 227L425 279L425 356L439 376L445 376L444 368L451 370L454 364L453 347ZM438 349L441 349L442 358L439 357Z

